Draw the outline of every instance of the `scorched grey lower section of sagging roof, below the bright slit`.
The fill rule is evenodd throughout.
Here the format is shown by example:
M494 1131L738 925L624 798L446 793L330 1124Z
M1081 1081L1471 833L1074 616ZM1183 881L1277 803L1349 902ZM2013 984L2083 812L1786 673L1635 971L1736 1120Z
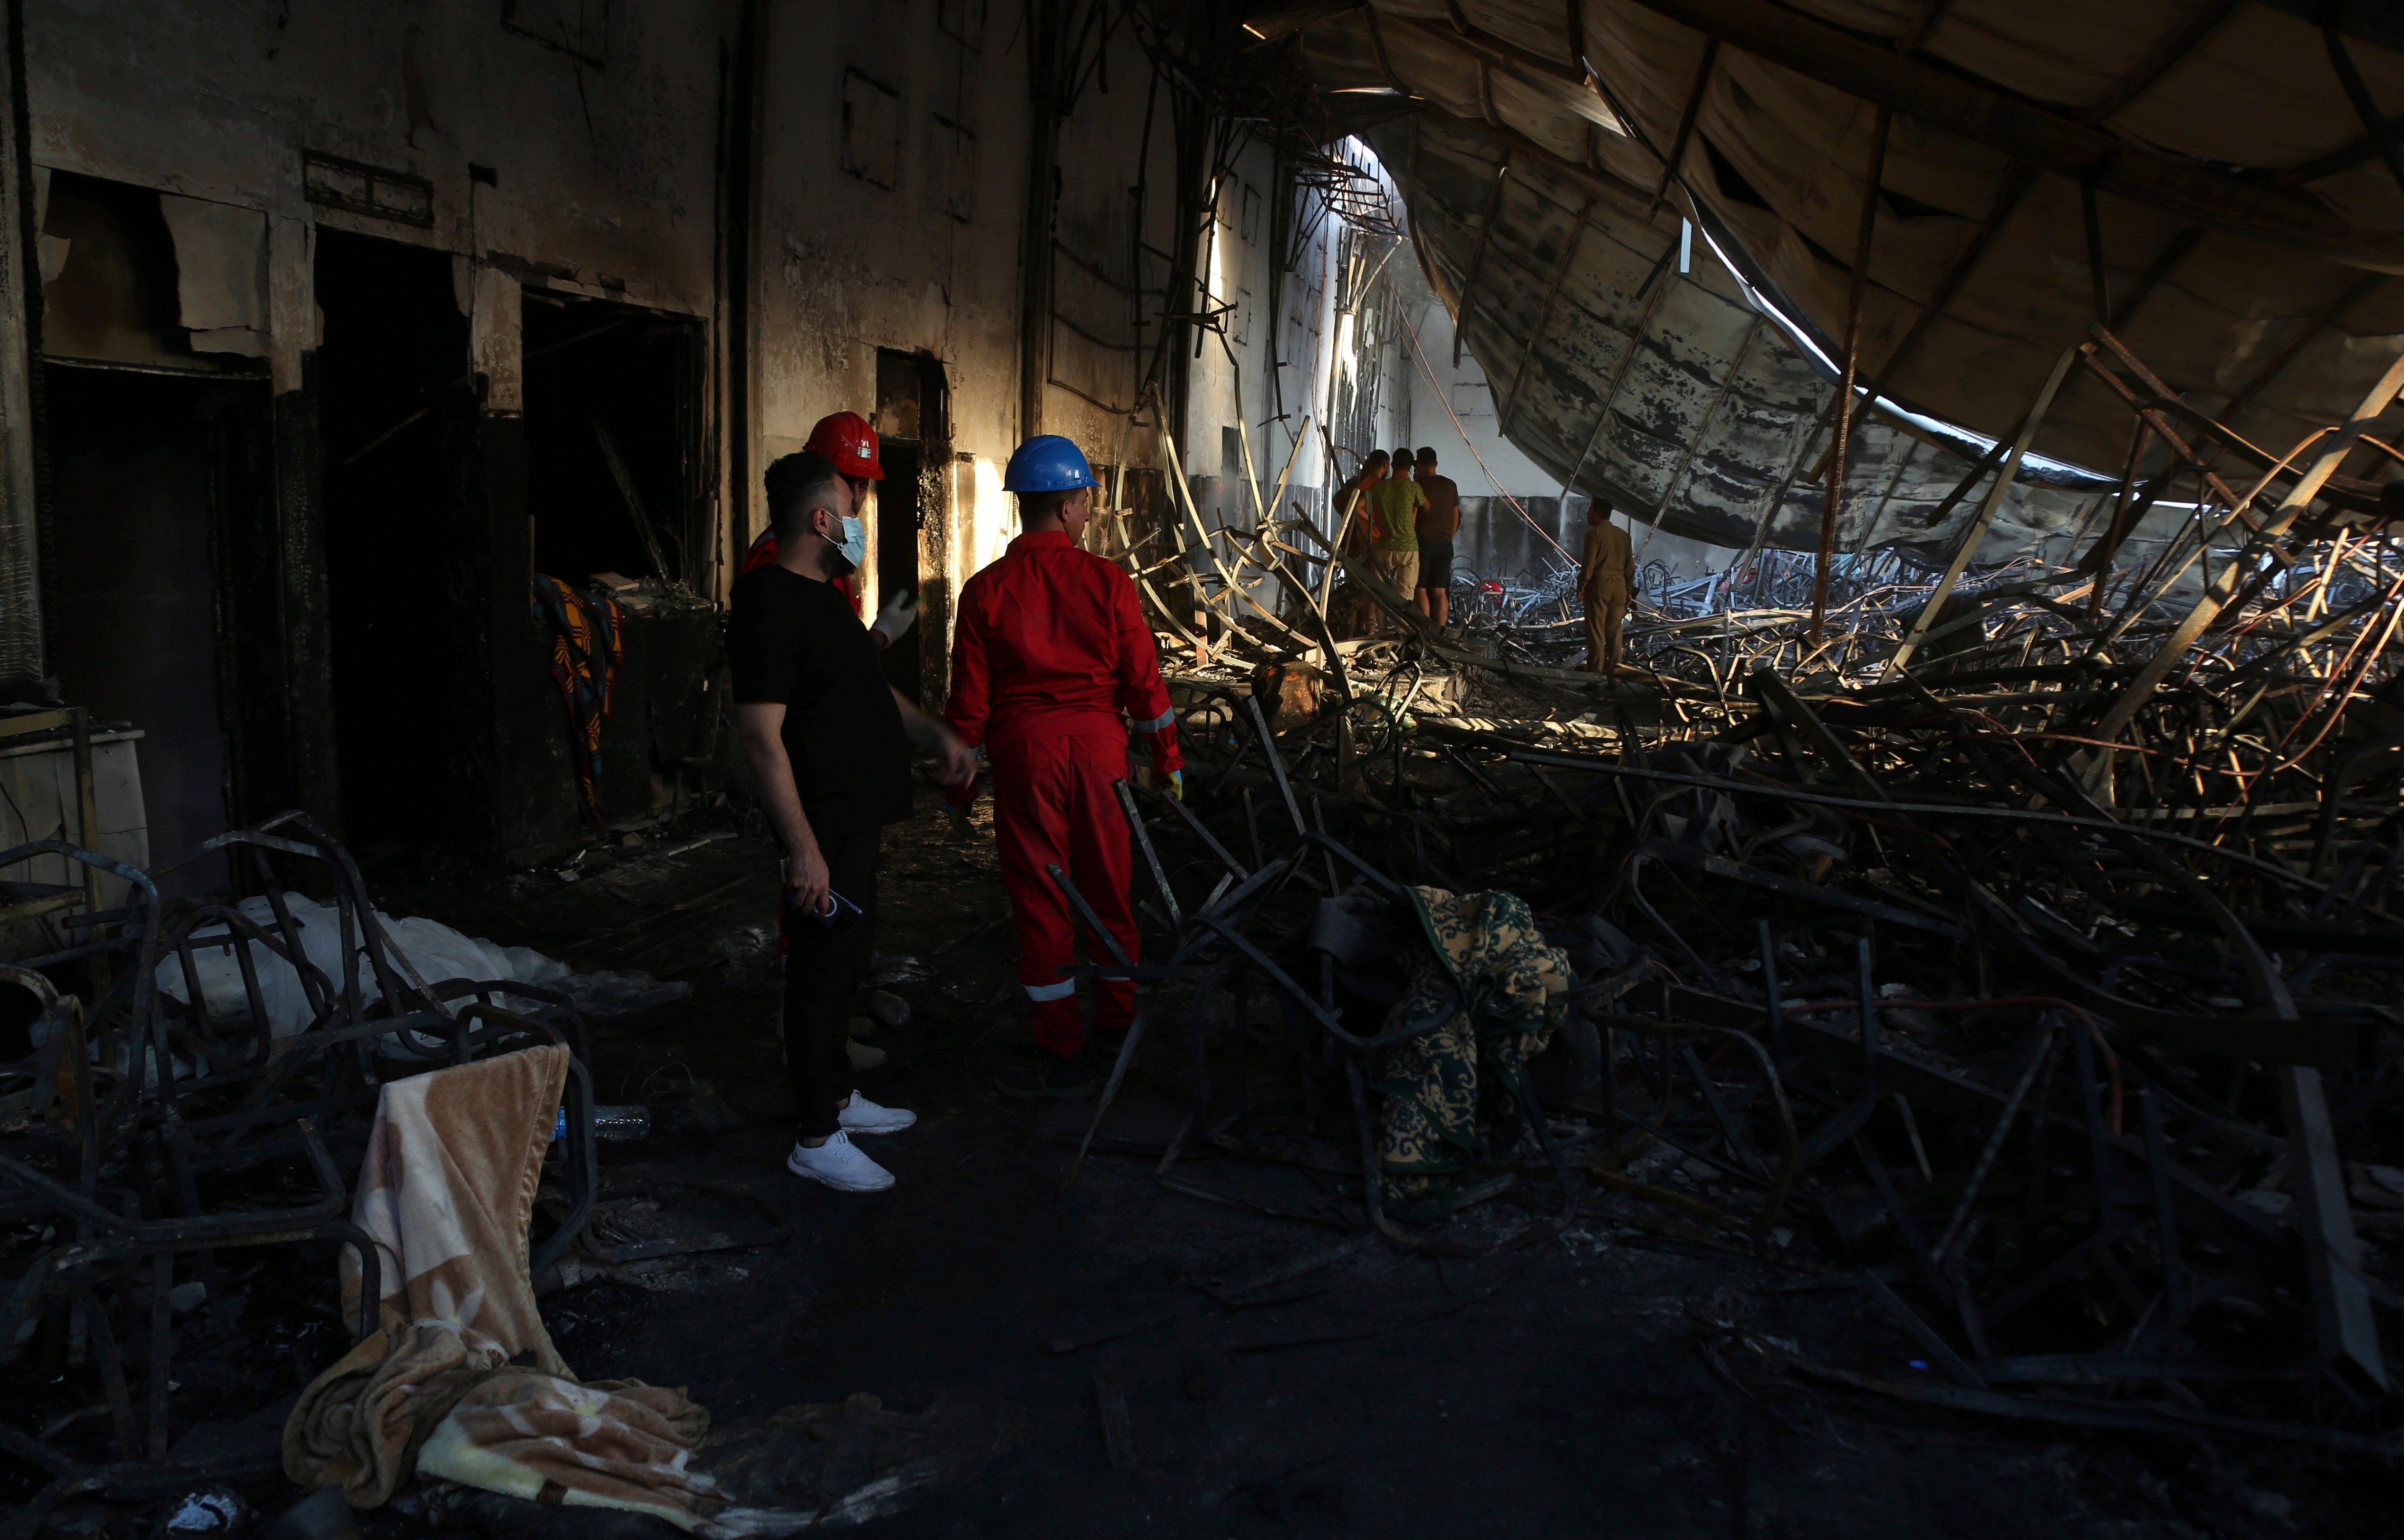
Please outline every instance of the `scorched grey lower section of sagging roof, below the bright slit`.
M1834 387L1748 303L1707 247L1697 243L1690 271L1676 269L1676 211L1647 216L1640 192L1599 190L1591 175L1563 173L1498 144L1483 125L1435 113L1368 137L1390 166L1418 168L1404 178L1414 235L1430 283L1457 317L1462 279L1478 262L1466 351L1486 363L1502 432L1529 459L1671 533L1721 545L1817 545L1825 502L1817 459ZM1505 195L1493 204L1498 228L1478 259L1505 154ZM1584 235L1577 235L1579 211ZM1558 252L1572 240L1558 291L1551 271L1531 279L1536 259L1495 257L1515 247ZM1935 509L1974 464L1952 449L1921 447L1897 480L1904 452L1892 440L1921 447L1882 423L1856 435L1839 543L1880 521L1880 509ZM1991 553L2077 529L2096 497L2091 488L2015 488ZM1890 517L1885 526L1897 543L1940 548L1974 512L1962 500L1935 526L1926 517L1902 524Z

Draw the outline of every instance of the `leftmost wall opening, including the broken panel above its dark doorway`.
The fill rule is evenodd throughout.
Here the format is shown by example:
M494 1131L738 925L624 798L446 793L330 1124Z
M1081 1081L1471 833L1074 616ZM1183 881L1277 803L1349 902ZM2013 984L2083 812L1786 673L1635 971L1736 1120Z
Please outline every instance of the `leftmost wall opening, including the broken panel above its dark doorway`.
M142 733L147 858L224 834L274 759L262 613L274 586L267 380L255 358L264 216L65 171L41 223L53 548L50 665L94 721ZM272 776L267 776L272 781ZM22 817L22 812L19 812ZM48 838L55 829L29 829ZM171 896L224 887L221 858Z

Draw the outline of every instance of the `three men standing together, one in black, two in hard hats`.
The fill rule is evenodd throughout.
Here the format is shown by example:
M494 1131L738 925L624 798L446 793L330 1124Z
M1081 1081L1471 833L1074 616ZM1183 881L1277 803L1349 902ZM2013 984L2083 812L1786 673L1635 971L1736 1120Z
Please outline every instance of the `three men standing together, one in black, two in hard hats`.
M1118 939L1139 954L1132 865L1115 781L1127 730L1147 742L1154 783L1183 795L1176 711L1132 579L1079 548L1094 471L1065 437L1010 456L1002 488L1022 533L959 593L952 690L942 718L885 682L877 651L909 632L914 596L889 596L863 625L853 574L868 557L861 512L885 478L858 413L820 420L798 454L767 468L769 529L736 579L726 627L736 726L760 807L784 850L784 1057L798 1105L793 1175L839 1192L882 1192L889 1170L853 1144L916 1122L851 1084L849 1016L875 942L882 829L911 817L911 754L935 759L947 800L976 795L976 750L993 766L995 838L1019 942L1034 1040L1002 1076L1007 1096L1084 1096L1091 1035L1135 1019L1135 983L1094 990L1079 1016L1060 867Z

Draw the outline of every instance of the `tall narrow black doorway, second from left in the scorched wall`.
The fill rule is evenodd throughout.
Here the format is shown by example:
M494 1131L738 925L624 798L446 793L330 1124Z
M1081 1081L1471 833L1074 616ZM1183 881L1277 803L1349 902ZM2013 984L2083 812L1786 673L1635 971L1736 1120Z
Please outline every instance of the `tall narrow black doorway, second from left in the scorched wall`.
M462 682L457 610L481 550L459 519L476 396L452 257L317 231L334 750L358 848L447 834Z

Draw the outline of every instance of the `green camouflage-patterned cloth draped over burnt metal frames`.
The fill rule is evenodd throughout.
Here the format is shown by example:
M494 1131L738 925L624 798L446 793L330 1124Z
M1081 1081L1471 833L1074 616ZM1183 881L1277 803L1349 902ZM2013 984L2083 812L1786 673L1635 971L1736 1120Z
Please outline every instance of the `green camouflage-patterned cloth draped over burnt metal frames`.
M1385 1096L1377 1165L1399 1204L1433 1196L1488 1151L1481 1117L1517 1139L1519 1067L1570 1014L1570 956L1543 942L1517 894L1414 887L1423 947L1409 947L1406 987L1385 1031L1442 1021L1380 1050L1370 1081Z

